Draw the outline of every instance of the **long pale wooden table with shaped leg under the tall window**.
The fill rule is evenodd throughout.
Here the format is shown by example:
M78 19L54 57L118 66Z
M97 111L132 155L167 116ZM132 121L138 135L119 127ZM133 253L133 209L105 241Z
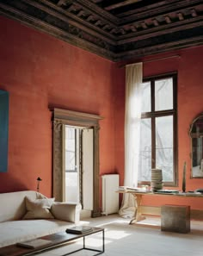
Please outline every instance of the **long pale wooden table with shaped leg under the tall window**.
M135 208L135 212L134 212L134 215L132 217L132 220L129 222L129 224L133 224L133 223L136 223L136 222L140 222L142 220L145 220L145 216L142 215L141 213L141 202L142 202L142 197L143 196L147 196L147 195L151 195L151 196L175 196L175 197L203 197L203 194L200 194L200 193L164 193L164 192L151 192L151 191L136 191L136 190L118 190L116 191L118 193L122 193L122 194L125 194L125 193L128 193L128 194L131 194L132 197L134 197L134 200L135 200L135 205L136 205L136 208Z

